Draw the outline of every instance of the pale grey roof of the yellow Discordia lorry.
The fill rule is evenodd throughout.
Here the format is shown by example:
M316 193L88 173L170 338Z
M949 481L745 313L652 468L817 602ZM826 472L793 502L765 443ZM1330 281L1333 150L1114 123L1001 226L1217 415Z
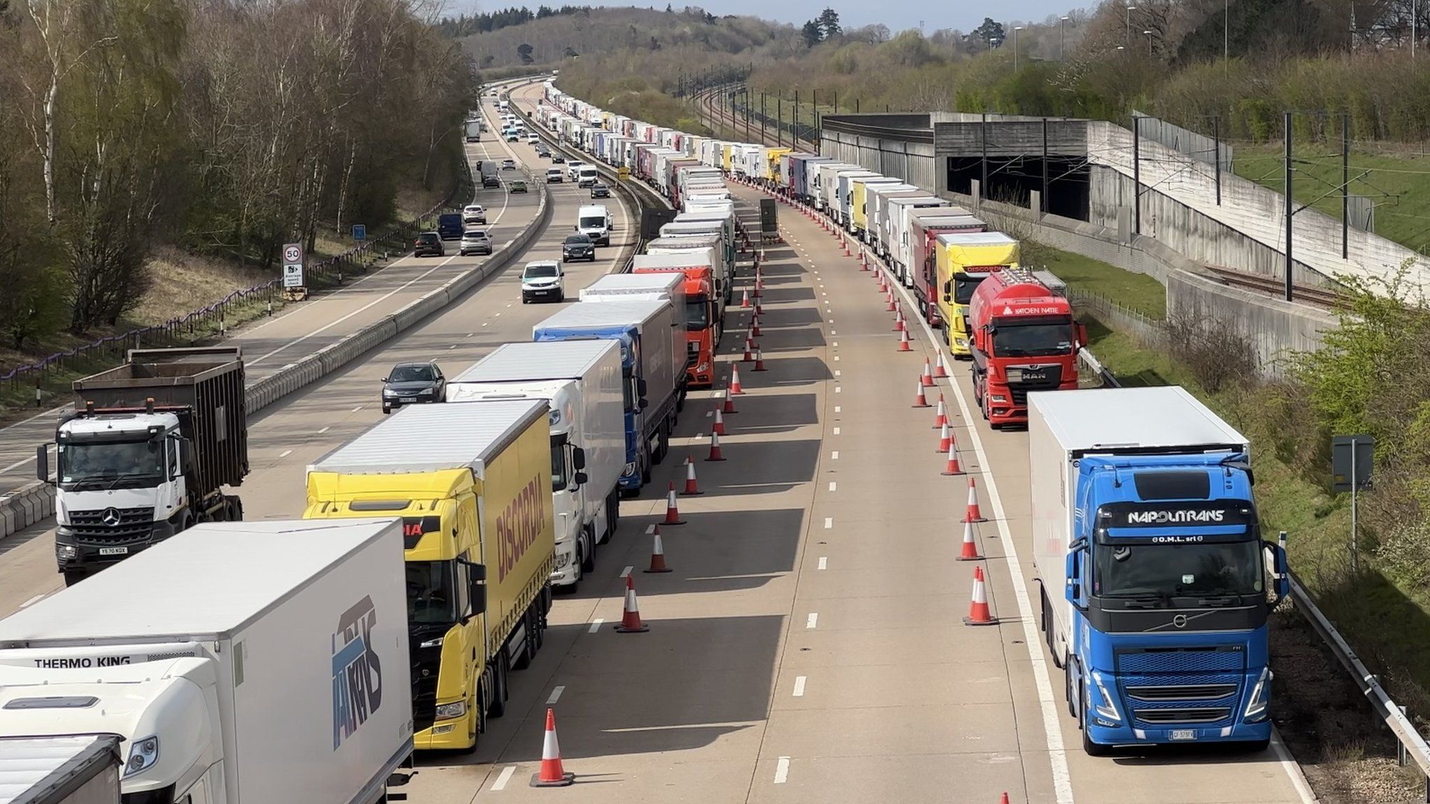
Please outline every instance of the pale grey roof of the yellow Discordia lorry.
M545 401L419 405L379 422L307 468L346 475L406 475L470 469L489 461L546 415Z

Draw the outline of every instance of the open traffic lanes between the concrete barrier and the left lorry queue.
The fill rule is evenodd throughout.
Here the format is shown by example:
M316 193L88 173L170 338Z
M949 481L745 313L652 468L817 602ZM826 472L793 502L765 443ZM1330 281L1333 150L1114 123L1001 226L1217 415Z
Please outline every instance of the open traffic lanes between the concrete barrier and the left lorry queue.
M526 165L543 166L525 143L512 150ZM442 313L375 349L363 359L263 409L249 421L252 472L236 489L249 519L297 518L303 512L309 464L382 418L382 378L393 363L436 359L455 375L492 348L529 340L531 328L555 305L521 302L521 269L536 259L561 259L561 242L576 223L576 207L589 193L575 185L552 185L552 217L545 232L509 268L483 280ZM636 226L619 200L611 200L616 230L593 263L568 263L568 302L598 275L621 263ZM0 541L0 615L63 587L54 564L50 526L34 526Z

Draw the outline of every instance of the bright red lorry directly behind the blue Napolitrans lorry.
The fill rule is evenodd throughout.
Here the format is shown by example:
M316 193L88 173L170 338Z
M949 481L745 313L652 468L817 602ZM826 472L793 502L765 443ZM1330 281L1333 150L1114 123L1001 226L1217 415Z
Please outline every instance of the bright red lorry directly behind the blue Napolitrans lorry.
M994 429L1028 422L1030 391L1077 388L1087 342L1072 305L1025 268L1002 268L968 302L974 399Z

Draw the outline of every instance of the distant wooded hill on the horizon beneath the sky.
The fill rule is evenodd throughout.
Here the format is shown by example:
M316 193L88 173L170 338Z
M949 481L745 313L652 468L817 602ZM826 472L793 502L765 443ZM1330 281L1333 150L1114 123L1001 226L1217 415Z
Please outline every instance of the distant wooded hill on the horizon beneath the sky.
M552 64L626 49L655 52L696 46L716 53L754 54L792 50L798 44L794 26L755 17L718 17L696 6L666 7L668 11L582 6L543 6L536 11L508 9L449 19L442 27L458 37L479 69Z

